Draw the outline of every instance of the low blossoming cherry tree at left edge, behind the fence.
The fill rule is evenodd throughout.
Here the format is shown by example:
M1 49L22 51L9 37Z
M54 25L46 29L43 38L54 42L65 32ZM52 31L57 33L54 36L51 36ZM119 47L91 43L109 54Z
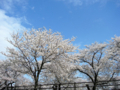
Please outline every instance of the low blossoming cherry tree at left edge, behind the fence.
M21 74L12 69L11 63L8 60L0 61L0 87L6 88L10 84L16 83L17 78Z

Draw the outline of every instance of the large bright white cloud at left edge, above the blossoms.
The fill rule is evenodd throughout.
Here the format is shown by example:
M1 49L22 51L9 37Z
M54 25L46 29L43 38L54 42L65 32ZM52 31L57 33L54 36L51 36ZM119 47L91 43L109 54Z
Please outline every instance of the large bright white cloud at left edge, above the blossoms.
M21 18L7 16L6 12L0 9L0 52L5 52L7 46L11 47L11 45L6 41L6 38L10 39L10 33L18 30L26 30L21 23ZM0 54L0 59L1 58L3 58L3 56Z

